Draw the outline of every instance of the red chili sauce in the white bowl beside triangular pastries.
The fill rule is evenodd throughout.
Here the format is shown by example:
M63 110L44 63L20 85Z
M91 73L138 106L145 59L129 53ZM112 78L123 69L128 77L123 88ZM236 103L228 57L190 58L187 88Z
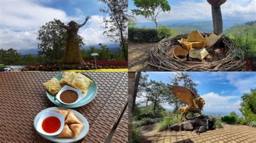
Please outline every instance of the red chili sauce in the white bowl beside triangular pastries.
M47 117L42 122L42 128L46 133L55 133L60 128L60 120L54 116Z

